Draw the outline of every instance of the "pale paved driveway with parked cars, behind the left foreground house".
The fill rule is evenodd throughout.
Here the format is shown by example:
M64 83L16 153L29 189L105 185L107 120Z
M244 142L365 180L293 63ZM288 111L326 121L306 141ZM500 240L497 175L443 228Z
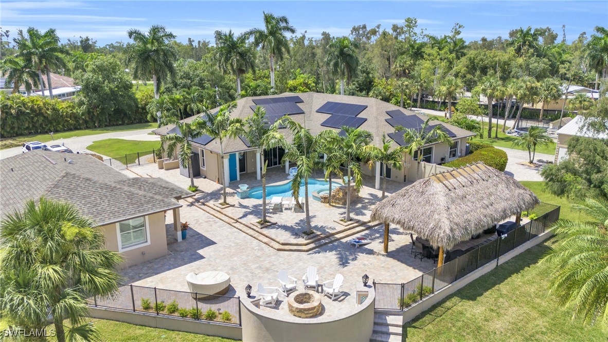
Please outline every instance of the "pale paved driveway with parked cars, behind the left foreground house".
M158 135L148 135L152 129L137 129L136 131L122 131L122 132L109 132L103 134L95 134L95 135L85 135L83 137L73 137L66 139L57 139L52 140L50 142L46 142L47 145L51 144L61 144L64 143L68 148L72 149L74 152L86 152L86 147L91 145L93 142L97 140L110 139L110 138L119 138L125 140L160 140L161 138ZM21 146L7 148L0 151L0 159L16 156L21 153ZM104 158L109 158L107 156L103 156Z

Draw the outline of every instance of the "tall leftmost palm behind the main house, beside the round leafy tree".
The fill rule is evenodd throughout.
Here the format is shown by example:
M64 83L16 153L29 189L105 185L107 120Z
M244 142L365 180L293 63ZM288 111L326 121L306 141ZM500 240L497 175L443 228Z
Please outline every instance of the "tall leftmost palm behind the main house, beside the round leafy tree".
M137 29L126 32L134 44L126 47L126 63L133 63L133 74L144 80L152 77L154 83L154 98L161 97L161 84L175 73L173 63L178 58L178 52L171 41L175 35L168 32L164 26L154 25L148 33ZM161 125L161 112L156 113L158 125Z

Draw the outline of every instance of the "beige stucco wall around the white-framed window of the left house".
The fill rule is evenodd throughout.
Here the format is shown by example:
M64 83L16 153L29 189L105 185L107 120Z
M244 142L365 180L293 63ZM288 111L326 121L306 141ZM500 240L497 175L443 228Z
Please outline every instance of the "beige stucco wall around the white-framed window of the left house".
M148 215L147 218L150 244L120 253L124 258L122 267L141 264L167 255L167 231L165 230L164 212ZM116 224L103 225L100 230L106 237L106 248L111 251L119 251Z

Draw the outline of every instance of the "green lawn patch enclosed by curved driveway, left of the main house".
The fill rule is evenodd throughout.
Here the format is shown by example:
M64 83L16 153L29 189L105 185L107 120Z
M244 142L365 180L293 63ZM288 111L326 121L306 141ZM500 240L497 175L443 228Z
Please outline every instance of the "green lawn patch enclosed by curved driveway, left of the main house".
M125 139L104 139L97 140L91 145L86 146L89 151L97 152L114 159L118 159L121 163L125 163L125 154L127 155L126 161L133 163L137 160L137 152L150 152L153 149L159 149L161 147L160 142L146 142L140 140L125 140ZM142 154L143 156L143 154Z

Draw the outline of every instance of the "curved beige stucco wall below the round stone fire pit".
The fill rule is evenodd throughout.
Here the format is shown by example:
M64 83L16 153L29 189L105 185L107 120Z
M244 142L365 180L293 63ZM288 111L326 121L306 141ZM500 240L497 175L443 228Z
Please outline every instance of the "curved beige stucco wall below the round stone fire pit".
M241 300L243 341L369 341L374 326L375 293L365 302L345 312L342 318L272 318L248 301ZM286 304L286 303L285 303Z

